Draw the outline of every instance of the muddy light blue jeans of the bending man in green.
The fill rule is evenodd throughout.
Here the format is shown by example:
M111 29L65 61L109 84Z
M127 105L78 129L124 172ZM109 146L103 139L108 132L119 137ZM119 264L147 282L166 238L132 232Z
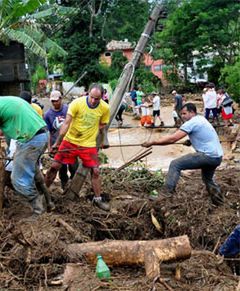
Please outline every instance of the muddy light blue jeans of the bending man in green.
M38 196L34 178L39 158L47 148L47 142L48 133L41 133L28 142L17 143L11 180L14 189L28 201Z

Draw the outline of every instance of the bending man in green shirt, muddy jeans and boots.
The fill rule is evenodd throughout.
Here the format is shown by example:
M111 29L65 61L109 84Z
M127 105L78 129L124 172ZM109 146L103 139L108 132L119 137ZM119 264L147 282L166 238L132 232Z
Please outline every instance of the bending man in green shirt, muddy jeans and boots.
M42 195L39 195L35 174L37 163L48 141L46 123L25 100L19 97L0 97L0 129L8 139L17 141L11 174L17 193L27 198L33 215L43 213Z

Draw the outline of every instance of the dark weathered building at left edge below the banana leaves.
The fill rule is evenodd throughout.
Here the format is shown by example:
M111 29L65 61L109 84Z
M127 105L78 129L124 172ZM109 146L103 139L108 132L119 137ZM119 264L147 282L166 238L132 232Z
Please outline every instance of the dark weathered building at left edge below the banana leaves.
M29 83L24 46L17 42L0 42L0 96L19 95Z

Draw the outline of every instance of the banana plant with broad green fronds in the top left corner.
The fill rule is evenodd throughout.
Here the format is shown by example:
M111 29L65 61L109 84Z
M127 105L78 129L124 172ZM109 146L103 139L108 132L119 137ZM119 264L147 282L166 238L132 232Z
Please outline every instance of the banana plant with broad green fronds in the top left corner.
M8 43L18 41L43 58L47 51L54 48L60 55L66 52L46 36L40 26L40 19L52 15L53 11L60 13L60 9L51 6L46 0L6 0L0 1L0 41ZM65 11L65 10L64 10Z

